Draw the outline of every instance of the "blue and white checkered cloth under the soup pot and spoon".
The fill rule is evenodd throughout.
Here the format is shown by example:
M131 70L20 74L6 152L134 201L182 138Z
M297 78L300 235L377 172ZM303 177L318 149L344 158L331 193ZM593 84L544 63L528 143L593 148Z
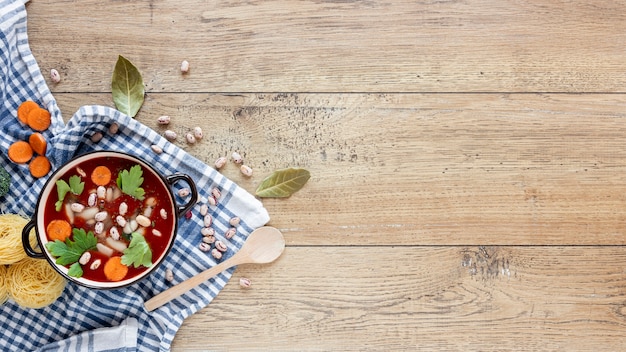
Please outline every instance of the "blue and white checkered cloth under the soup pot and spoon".
M0 0L0 160L12 175L9 194L0 197L0 212L31 216L46 181L46 178L33 179L27 165L16 165L7 158L9 145L27 140L32 133L16 118L18 106L30 99L52 113L52 126L44 136L49 142L46 156L53 170L84 152L116 150L146 160L164 175L188 174L198 186L201 202L206 202L213 187L219 187L222 197L218 207L212 208L213 227L218 237L228 229L231 217L241 218L237 236L231 240L221 238L230 247L224 259L241 247L252 230L269 221L267 211L254 196L157 132L115 109L85 106L65 124L29 49L24 2ZM114 135L108 132L112 123L119 125L119 132ZM95 132L104 135L98 143L90 138ZM164 152L155 154L150 148L152 144L161 146ZM216 264L210 255L198 249L203 223L197 209L192 214L191 219L180 220L176 242L165 262L137 284L119 290L97 291L69 283L62 296L48 307L24 309L12 301L0 306L0 349L169 350L183 320L208 305L234 270L218 275L154 312L144 309L144 301L171 285L165 280L166 268L175 272L174 283L177 283Z

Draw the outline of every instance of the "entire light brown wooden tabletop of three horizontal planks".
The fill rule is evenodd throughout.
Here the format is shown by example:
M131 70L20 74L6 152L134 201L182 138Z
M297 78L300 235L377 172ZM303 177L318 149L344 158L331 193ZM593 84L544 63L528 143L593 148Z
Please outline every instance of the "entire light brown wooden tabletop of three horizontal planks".
M623 1L31 0L65 119L113 106L239 151L287 248L237 268L173 351L626 349ZM180 63L191 70L183 75ZM251 289L238 285L252 280Z

